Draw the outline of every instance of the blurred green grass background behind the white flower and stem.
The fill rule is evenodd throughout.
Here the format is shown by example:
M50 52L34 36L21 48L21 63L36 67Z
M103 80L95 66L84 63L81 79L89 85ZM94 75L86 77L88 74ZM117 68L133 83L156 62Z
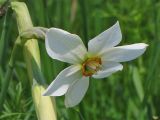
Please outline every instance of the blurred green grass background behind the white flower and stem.
M0 0L0 6L4 0ZM57 97L58 120L160 120L160 1L159 0L25 0L33 24L58 27L88 40L120 22L120 45L144 42L147 51L123 63L124 69L103 80L90 80L81 104L66 109ZM1 10L1 9L0 9ZM0 17L0 88L18 35L15 15ZM52 60L39 42L47 83L67 66ZM0 120L37 120L22 51L7 92ZM1 99L1 98L0 98ZM159 118L158 118L159 117Z

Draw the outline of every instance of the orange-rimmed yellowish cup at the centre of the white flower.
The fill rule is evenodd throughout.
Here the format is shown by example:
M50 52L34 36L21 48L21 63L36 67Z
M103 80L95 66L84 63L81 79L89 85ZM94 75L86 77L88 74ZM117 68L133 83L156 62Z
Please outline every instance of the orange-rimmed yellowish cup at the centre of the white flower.
M83 64L82 64L82 74L84 76L92 76L94 73L96 73L102 64L101 58L94 57L94 58L88 58Z

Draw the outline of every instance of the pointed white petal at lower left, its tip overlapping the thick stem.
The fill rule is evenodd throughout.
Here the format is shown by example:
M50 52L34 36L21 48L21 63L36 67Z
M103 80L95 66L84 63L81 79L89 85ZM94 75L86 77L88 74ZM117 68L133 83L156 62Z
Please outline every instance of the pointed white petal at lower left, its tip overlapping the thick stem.
M81 67L72 65L59 73L55 80L49 85L43 95L45 96L61 96L64 95L69 86L77 79L82 77Z

